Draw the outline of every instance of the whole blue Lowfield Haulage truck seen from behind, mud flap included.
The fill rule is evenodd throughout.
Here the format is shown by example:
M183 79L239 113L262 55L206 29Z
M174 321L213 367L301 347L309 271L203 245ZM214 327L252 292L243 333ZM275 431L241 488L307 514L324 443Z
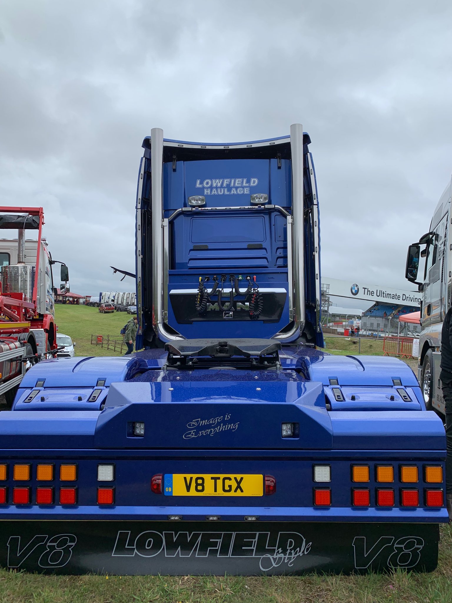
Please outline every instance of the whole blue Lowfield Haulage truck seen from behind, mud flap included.
M137 352L43 361L0 414L0 564L430 571L445 434L413 371L321 350L310 138L143 142Z

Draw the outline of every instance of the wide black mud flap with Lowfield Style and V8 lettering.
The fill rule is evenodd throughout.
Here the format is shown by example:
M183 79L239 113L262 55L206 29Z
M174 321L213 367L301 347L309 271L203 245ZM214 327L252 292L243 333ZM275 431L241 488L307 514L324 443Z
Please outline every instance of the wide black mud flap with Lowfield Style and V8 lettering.
M436 523L0 523L0 564L33 572L301 575L431 572Z

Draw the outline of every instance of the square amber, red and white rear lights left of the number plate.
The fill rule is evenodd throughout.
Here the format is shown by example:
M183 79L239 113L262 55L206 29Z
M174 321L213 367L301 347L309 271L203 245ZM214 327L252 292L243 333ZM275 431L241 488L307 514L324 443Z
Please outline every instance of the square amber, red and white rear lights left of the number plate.
M10 475L8 475L10 473ZM1 482L12 477L13 485L8 487ZM14 482L30 482L36 479L36 488L27 484L14 484ZM115 465L99 464L97 471L98 482L111 482L115 479ZM40 482L59 481L59 487L52 484ZM77 505L77 487L66 482L77 482L78 466L76 463L64 463L55 467L53 463L39 463L36 465L36 473L30 463L15 463L8 466L0 464L0 505ZM98 505L115 504L115 488L97 488Z

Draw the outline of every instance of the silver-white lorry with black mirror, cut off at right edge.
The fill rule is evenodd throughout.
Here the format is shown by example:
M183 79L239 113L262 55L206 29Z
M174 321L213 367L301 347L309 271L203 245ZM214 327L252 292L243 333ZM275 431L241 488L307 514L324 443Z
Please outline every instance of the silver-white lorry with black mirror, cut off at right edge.
M418 379L428 409L445 414L439 374L441 330L451 306L452 292L452 182L438 201L430 229L408 248L406 278L419 286L421 335L419 336Z

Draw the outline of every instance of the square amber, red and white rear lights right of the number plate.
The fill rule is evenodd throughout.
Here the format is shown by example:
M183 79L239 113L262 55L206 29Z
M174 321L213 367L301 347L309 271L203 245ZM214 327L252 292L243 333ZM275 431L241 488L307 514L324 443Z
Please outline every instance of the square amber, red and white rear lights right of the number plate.
M437 465L425 465L423 468L422 481L424 482L423 502L425 507L443 507L444 492L442 488L432 487L435 484L442 484L442 467ZM400 484L418 484L419 469L417 466L400 465L398 467L398 481ZM371 506L371 488L365 484L373 481L378 484L375 488L375 506L376 507L395 507L396 489L388 487L386 484L394 484L396 481L394 465L378 464L374 468L374 475L371 476L371 467L367 464L353 464L351 466L351 481L356 485L351 488L351 504L353 507ZM331 482L331 467L329 465L313 466L313 482ZM373 490L373 488L372 488ZM419 507L421 496L416 486L399 488L399 506L400 507ZM331 488L314 487L313 504L315 507L330 507Z

